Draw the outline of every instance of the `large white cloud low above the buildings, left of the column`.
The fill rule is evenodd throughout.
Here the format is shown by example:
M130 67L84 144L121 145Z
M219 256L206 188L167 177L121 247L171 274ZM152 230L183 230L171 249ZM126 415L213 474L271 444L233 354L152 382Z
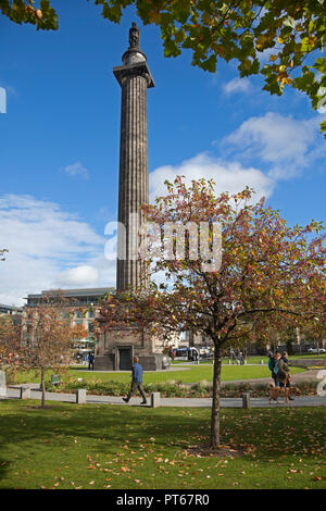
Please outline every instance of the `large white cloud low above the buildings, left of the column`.
M27 294L58 287L115 285L104 259L105 237L61 208L30 196L0 198L0 302L23 304Z

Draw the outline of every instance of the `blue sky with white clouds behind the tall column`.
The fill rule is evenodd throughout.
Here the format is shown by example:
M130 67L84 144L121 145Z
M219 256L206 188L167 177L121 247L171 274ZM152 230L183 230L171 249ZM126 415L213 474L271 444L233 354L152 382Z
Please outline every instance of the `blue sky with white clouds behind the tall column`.
M58 32L0 20L0 302L54 287L114 286L104 258L116 220L121 65L133 21L155 88L148 90L151 198L165 178L213 177L217 191L248 184L290 225L325 220L325 139L300 92L262 91L235 62L212 75L191 54L165 59L155 26L128 9L120 25L86 0L53 0ZM268 59L268 55L262 55Z

